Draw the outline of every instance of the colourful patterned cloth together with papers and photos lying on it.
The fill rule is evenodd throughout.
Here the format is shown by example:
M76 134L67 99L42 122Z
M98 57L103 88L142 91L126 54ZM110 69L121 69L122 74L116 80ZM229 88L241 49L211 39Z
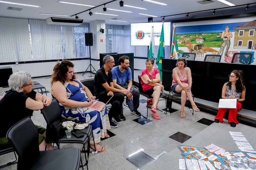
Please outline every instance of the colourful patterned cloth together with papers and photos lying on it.
M187 159L196 159L190 152L193 152L193 151L196 152L196 151L198 151L198 152L202 153L202 155L204 155L204 156L207 157L207 158L208 158L209 156L211 156L211 155L216 156L217 159L215 159L214 161L221 163L220 166L222 167L222 169L224 168L224 169L227 169L227 170L231 170L231 167L230 167L229 163L232 163L232 160L228 160L227 157L225 157L225 156L216 155L215 153L209 152L209 151L208 151L207 149L205 149L205 148L197 148L197 147L185 146L185 145L179 145L178 148L179 148L179 150L181 151L181 155L182 155L183 159L185 159L185 161L186 161L186 169L189 169L188 166L187 166L188 163L189 163L189 166L192 166L192 167L193 167L192 161L189 161L189 160L187 160ZM251 157L251 156L250 156L251 153L249 153L249 152L241 152L241 153L240 153L240 152L238 152L238 151L227 151L227 152L229 152L230 154L232 154L232 157L237 156L237 154L240 155L241 153L243 153L243 158L240 157L240 158L237 159L237 160L244 160L243 166L245 165L246 167L250 167L250 168L248 168L247 170L251 169L254 165L255 165L255 169L256 169L256 163L254 164L254 161L256 161L256 158ZM254 156L254 154L253 154L252 156ZM256 157L256 155L255 155L255 157ZM199 163L199 166L200 166L201 170L202 170L202 169L205 170L205 169L203 168L203 166L205 166L204 164L206 164L206 166L207 166L207 164L210 163L213 167L215 167L215 166L214 166L214 161L207 161L207 160L208 160L208 159L198 160L198 163ZM241 164L241 167L243 167L241 162L238 162L237 166L239 166L239 164ZM226 166L227 166L227 168L225 168ZM234 166L235 166L235 165L234 165ZM237 166L235 166L235 167L237 168ZM217 167L216 167L216 168L217 168ZM233 167L232 167L232 168L233 168ZM207 170L210 170L210 168L209 168L208 166L206 167L206 169L207 169ZM233 168L233 169L234 169L234 168Z

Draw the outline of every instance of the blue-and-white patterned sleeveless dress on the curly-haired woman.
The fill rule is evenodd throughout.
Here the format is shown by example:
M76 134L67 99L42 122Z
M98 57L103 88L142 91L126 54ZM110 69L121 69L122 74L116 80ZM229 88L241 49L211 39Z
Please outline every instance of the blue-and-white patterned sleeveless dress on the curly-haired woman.
M82 90L82 85L77 80L74 80L79 84L79 87L71 85L66 82L64 84L67 90L67 98L75 101L87 101L88 97L84 90ZM65 119L70 119L73 121L86 122L92 125L93 135L95 143L100 142L100 138L104 138L104 132L106 129L110 129L110 123L107 113L107 108L104 107L101 112L88 107L64 107L60 102L59 105L62 110L62 117ZM90 137L90 143L93 143L92 136Z

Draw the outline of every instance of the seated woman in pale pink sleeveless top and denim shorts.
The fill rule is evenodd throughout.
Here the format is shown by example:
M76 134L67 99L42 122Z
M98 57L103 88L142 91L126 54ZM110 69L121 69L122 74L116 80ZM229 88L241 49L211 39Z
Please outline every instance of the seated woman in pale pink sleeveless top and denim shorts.
M174 92L181 93L181 118L185 118L184 107L187 98L191 102L191 105L195 112L200 110L196 107L195 102L192 98L191 86L192 86L192 76L191 70L187 67L187 61L184 57L180 57L177 60L176 67L172 70L172 85L171 89Z

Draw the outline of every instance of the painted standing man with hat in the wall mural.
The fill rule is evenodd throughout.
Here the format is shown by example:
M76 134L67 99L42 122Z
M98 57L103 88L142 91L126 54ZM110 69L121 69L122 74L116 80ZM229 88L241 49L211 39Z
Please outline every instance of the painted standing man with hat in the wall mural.
M230 31L228 31L229 26L226 26L225 29L226 29L226 31L223 31L222 34L221 34L221 38L223 39L223 42L221 43L218 55L222 55L223 51L224 51L224 48L227 46L226 51L225 51L225 56L227 56L227 51L228 51L229 46L230 46L230 38L232 38L233 35Z

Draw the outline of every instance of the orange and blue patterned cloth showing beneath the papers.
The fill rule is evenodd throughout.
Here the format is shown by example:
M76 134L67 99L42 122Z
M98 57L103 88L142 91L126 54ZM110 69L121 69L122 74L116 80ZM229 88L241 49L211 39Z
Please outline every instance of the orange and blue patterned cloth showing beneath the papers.
M205 148L197 148L197 147L185 146L185 145L179 145L178 148L179 148L179 150L180 150L180 152L181 152L181 155L182 155L183 159L196 159L196 158L195 158L191 153L189 153L189 152L198 150L199 152L201 152L201 153L202 153L203 155L205 155L206 157L209 157L210 155L217 156L218 158L215 159L214 161L220 162L220 163L223 164L223 165L227 165L227 167L229 168L229 170L231 170L229 164L226 162L227 157L224 157L224 156L221 156L221 155L216 155L216 154L213 153L213 152L209 152L209 151L208 151L207 149L205 149ZM232 154L231 156L233 156L233 153L236 153L236 152L238 152L238 151L227 151L227 152L231 153L231 154ZM252 157L250 157L249 155L247 155L247 153L249 153L249 152L242 152L242 153L244 153L244 155L245 155L247 158L249 158L249 159L255 159L255 158L252 158ZM205 159L205 161L208 161L208 159ZM212 166L214 166L214 162L213 162L213 161L210 161L210 162L211 162ZM207 167L207 169L209 169L209 168Z

